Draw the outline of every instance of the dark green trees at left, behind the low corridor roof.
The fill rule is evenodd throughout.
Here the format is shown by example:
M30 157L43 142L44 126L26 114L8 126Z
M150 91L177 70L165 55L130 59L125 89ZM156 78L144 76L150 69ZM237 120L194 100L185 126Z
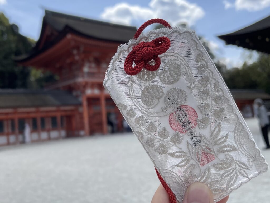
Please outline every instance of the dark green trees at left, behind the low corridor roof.
M21 35L18 26L0 13L0 88L39 88L48 78L55 79L50 73L15 63L16 56L28 54L34 45L34 40Z

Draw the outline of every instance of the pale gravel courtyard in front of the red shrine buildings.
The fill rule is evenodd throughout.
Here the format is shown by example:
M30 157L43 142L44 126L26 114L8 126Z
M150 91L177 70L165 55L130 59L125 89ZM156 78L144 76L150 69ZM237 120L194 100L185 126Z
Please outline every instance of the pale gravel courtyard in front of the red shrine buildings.
M257 121L247 123L263 148ZM262 154L270 163L270 150ZM158 185L132 133L0 148L0 203L144 203ZM270 202L270 172L242 185L228 202Z

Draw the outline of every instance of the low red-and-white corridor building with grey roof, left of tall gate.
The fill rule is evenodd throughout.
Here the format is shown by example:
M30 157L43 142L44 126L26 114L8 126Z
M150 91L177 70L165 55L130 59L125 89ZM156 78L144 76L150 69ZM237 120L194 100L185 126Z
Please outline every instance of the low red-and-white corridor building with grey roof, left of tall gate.
M0 89L0 145L25 142L25 126L31 142L71 137L81 102L61 90Z

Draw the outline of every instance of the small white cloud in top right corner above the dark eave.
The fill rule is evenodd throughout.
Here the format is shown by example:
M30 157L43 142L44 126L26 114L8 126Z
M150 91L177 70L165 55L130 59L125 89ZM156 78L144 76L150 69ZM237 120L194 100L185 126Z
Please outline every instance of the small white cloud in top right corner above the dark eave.
M270 6L270 0L235 0L237 10L259 11Z

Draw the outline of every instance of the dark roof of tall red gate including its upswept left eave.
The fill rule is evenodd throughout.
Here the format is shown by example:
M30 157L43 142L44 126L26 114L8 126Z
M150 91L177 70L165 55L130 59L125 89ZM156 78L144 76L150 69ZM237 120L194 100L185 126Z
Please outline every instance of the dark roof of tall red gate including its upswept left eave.
M47 25L55 29L58 32L58 35L52 41L46 42L42 47L39 47ZM132 39L136 31L136 27L45 10L39 40L36 42L35 47L29 54L16 56L14 60L16 62L27 61L53 47L68 33L74 33L76 35L97 40L119 42L122 44Z

